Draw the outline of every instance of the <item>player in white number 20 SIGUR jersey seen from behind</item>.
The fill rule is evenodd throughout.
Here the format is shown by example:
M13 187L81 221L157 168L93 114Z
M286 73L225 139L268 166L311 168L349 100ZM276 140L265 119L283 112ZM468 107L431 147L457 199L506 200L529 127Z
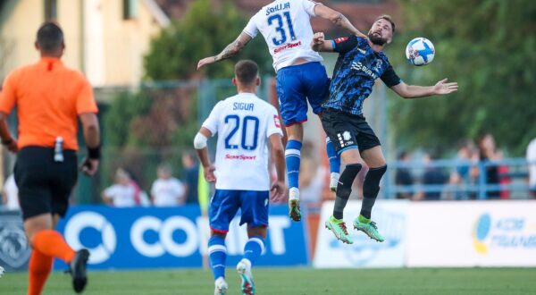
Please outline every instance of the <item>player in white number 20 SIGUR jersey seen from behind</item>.
M240 225L247 223L249 240L237 271L242 279L242 294L255 294L251 266L263 253L270 190L272 200L282 198L286 190L283 133L275 107L255 96L261 82L256 63L237 63L232 82L239 94L214 106L194 139L194 147L203 164L205 180L216 182L208 211L211 228L208 255L214 273L214 294L227 292L225 236L239 209L242 215ZM216 133L219 135L213 165L208 158L206 140ZM268 172L268 144L272 147L271 156L277 172L277 181L272 186Z

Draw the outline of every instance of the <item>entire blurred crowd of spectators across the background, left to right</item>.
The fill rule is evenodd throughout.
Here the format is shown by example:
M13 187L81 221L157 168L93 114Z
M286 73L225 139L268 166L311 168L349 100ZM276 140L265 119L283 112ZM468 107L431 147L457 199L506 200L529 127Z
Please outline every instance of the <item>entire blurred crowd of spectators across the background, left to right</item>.
M327 188L329 169L318 156L314 144L304 142L302 164L300 167L299 186L305 206L315 206L325 199L334 198ZM411 200L466 200L478 198L476 189L484 177L485 183L498 185L495 190L486 191L487 199L511 198L511 191L504 185L512 182L513 173L506 164L493 164L503 159L503 152L496 146L490 133L482 135L475 143L465 139L459 143L456 156L450 158L450 164L437 164L438 156L431 151L408 152L398 154L396 164L391 164L394 184L397 190L385 198ZM446 160L442 158L442 160ZM526 179L532 198L536 198L536 139L526 149L529 163L528 173L521 177ZM102 201L108 206L182 206L198 204L199 164L195 152L187 151L181 156L181 175L171 164L159 164L155 171L155 180L149 190L143 190L135 175L127 167L119 167L114 173L113 183L102 191ZM487 163L482 165L483 163ZM364 164L364 162L362 163ZM485 167L484 175L481 175ZM356 177L350 198L361 198L364 175L368 168L364 164ZM519 175L516 175L517 177ZM2 189L2 207L18 210L18 190L13 174L4 181Z

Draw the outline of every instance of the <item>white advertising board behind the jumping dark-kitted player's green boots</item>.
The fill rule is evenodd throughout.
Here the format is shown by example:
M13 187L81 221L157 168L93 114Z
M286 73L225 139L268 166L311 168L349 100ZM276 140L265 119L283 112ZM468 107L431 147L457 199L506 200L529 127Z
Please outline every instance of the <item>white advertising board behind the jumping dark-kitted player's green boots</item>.
M337 240L324 227L331 216L334 202L322 204L321 221L318 227L314 267L400 267L404 265L406 248L407 201L378 200L373 207L373 221L385 238L384 242L371 240L363 232L357 232L352 225L361 209L361 201L350 201L344 211L348 233L354 240L351 245Z

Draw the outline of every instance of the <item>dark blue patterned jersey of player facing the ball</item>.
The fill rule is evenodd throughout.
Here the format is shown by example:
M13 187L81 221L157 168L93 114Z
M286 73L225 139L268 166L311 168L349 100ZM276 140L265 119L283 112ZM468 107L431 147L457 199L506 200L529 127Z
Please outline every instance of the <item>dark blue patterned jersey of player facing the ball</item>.
M350 36L332 43L339 58L331 78L330 98L323 108L363 114L363 102L373 91L374 80L380 78L388 87L401 82L387 56L374 52L367 39Z

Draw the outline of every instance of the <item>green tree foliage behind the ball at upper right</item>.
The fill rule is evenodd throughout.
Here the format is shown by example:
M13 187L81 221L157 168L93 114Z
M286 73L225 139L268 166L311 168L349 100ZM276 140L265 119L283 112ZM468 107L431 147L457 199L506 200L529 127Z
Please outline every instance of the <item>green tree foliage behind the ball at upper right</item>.
M452 147L490 131L513 156L536 137L536 2L530 0L399 0L404 31L389 55L407 84L433 85L448 77L459 90L447 97L397 99L391 106L399 144ZM403 62L411 38L436 46L433 63ZM394 48L394 49L393 49Z

